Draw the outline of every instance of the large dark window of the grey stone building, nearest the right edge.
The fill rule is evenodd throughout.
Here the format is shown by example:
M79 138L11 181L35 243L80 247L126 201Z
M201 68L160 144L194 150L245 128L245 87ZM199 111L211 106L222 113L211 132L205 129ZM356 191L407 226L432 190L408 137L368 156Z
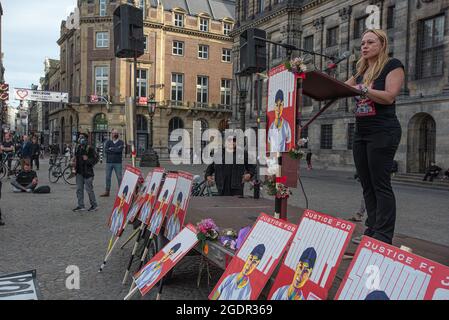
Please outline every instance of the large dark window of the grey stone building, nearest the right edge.
M420 21L416 76L418 79L443 75L444 15Z

